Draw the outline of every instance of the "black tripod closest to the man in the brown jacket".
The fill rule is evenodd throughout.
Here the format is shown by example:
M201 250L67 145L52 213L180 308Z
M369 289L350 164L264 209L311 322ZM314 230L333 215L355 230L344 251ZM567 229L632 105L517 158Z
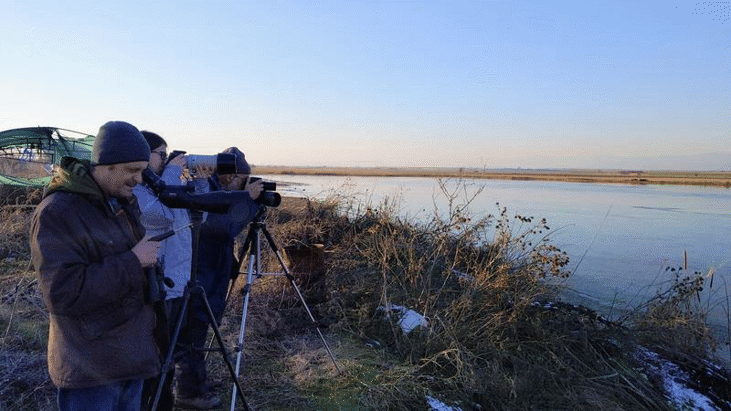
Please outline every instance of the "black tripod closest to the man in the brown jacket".
M213 311L211 310L211 306L208 304L208 297L206 296L206 291L203 289L203 287L198 284L197 279L197 272L198 272L198 242L200 240L200 229L201 229L201 223L203 221L203 212L199 210L190 210L190 220L191 220L191 226L193 228L193 252L192 252L192 264L191 264L191 270L190 270L190 279L188 280L188 283L185 285L185 289L183 291L183 304L180 308L180 313L178 314L177 322L175 324L175 331L173 332L173 335L170 340L170 344L168 346L168 351L165 356L165 362L162 365L162 371L160 374L160 380L157 384L157 390L155 392L155 399L152 403L152 411L157 410L158 402L160 401L160 395L162 394L162 388L165 383L165 378L167 377L168 372L170 371L170 368L173 367L173 354L175 351L175 346L178 342L178 337L180 335L180 329L183 325L183 320L186 318L188 314L188 304L190 302L190 298L193 295L197 295L201 298L201 301L203 302L203 306L206 308L206 315L208 316L208 321L211 325L211 328L213 329L213 333L216 337L216 341L218 342L219 348L216 350L221 353L223 356L224 361L226 362L226 366L228 368L229 373L231 374L231 378L234 381L234 395L238 393L239 398L241 398L241 403L244 405L244 409L246 411L249 411L249 405L246 403L246 399L244 398L243 391L241 390L241 386L239 385L238 380L238 370L234 370L233 365L231 364L231 360L229 359L228 352L226 351L226 346L223 343L223 338L221 337L221 332L218 329L218 323L216 322L216 318L213 315ZM237 390L238 389L238 390ZM235 397L234 397L235 398ZM233 408L232 408L233 409Z

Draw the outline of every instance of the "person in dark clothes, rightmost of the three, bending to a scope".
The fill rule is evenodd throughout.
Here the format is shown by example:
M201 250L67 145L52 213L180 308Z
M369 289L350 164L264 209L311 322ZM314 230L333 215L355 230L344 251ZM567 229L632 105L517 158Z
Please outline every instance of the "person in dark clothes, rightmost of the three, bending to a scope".
M254 216L259 206L254 202L262 192L262 181L248 184L251 168L244 154L236 147L230 147L223 153L236 156L236 174L214 173L210 182L210 191L246 190L249 193L246 206L248 215ZM198 241L197 280L206 292L211 311L216 323L220 323L225 309L226 291L230 273L234 265L234 241L250 221L238 221L228 214L208 213L203 223ZM194 347L203 348L208 333L208 315L199 299L192 299L188 313L188 337ZM181 361L187 374L178 379L178 391L196 396L210 395L211 386L207 381L205 357L201 350L194 350L189 357ZM182 383L182 384L181 384Z

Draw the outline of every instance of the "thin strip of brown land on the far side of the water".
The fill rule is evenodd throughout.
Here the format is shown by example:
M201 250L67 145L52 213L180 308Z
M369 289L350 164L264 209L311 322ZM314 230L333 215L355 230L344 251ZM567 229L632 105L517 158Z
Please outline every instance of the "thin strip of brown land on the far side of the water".
M359 176L359 177L442 177L497 180L540 180L574 183L672 184L731 188L731 172L723 171L632 171L632 170L523 170L456 168L359 168L253 166L253 174Z

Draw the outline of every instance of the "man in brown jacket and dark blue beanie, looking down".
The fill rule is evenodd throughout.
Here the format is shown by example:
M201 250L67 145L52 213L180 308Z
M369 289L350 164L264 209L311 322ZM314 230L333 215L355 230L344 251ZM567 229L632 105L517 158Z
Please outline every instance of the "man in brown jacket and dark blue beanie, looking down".
M91 162L62 160L33 215L31 256L50 312L48 369L60 411L139 410L143 380L159 372L145 268L160 244L144 237L132 194L149 158L137 128L110 121Z

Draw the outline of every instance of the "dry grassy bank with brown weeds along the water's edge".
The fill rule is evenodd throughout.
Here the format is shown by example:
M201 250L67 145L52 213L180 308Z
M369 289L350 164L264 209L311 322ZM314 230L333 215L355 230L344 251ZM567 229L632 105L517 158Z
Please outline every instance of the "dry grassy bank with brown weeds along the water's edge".
M257 279L241 370L251 406L425 410L432 398L462 410L694 409L673 401L638 354L650 350L682 365L719 409L728 408L728 384L703 377L728 374L708 362L715 342L697 301L700 274L675 271L664 292L608 321L560 302L560 286L550 284L570 275L568 257L551 243L549 222L499 205L473 220L470 199L458 192L444 192L447 217L421 225L398 218L393 204L367 207L337 196L286 198L268 210L266 225L288 250L337 366L293 287L281 276ZM0 240L13 257L0 262L0 409L51 410L47 316L29 270L28 210L2 213ZM280 271L262 244L263 271ZM244 277L221 324L229 347L241 324ZM408 310L423 321L415 317L420 326L406 332ZM221 356L209 361L227 402Z

